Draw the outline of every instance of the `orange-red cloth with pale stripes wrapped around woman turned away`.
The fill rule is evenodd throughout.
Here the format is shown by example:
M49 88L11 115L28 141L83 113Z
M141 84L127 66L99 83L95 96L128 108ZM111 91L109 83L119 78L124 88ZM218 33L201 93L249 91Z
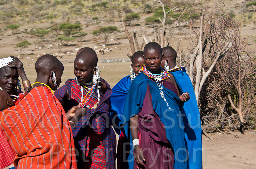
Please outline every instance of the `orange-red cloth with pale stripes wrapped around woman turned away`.
M16 168L77 169L69 121L50 89L33 88L0 119Z

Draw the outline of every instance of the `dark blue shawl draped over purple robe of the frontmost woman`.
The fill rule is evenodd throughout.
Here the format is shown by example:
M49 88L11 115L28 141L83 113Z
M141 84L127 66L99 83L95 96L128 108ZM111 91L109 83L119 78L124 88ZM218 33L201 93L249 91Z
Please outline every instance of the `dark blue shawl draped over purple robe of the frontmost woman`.
M152 95L153 109L159 116L161 122L166 127L167 139L172 144L174 150L174 168L175 169L186 169L186 146L184 141L184 129L180 128L183 126L183 120L181 118L180 110L182 109L183 103L180 102L180 98L170 89L163 87L164 96L171 107L168 109L166 102L160 95L160 90L157 87L156 82L148 79L144 73L139 74L133 81L128 90L126 96L123 118L121 119L121 125L124 126L124 136L130 140L130 153L126 160L129 162L129 168L133 168L133 147L132 147L132 136L129 130L130 117L138 114L143 106L143 100L146 95L147 85L149 85L150 93ZM147 160L147 159L146 159Z

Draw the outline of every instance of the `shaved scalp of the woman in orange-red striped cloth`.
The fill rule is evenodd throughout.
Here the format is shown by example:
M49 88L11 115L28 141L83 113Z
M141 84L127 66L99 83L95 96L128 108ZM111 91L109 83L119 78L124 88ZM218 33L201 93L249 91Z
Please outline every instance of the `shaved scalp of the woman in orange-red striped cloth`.
M51 71L63 71L64 67L60 60L50 54L46 54L36 60L35 69L37 74L48 74Z

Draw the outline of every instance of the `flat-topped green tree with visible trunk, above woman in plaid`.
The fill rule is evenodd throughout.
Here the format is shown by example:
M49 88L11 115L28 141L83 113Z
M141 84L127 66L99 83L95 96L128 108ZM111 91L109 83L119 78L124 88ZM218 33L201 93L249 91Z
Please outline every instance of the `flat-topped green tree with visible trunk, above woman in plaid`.
M94 30L92 35L100 36L102 39L104 39L105 45L107 45L108 37L116 32L120 32L120 30L117 29L117 26L105 26L98 30Z

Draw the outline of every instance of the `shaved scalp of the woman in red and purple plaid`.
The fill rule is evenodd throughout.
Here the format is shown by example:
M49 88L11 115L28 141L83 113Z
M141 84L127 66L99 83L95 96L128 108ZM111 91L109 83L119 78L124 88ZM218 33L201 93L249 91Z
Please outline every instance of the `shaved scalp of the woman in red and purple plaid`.
M84 49L83 51L78 53L78 55L76 56L75 62L80 62L80 63L86 62L87 65L96 67L98 63L98 56L92 48L88 47L88 49Z

